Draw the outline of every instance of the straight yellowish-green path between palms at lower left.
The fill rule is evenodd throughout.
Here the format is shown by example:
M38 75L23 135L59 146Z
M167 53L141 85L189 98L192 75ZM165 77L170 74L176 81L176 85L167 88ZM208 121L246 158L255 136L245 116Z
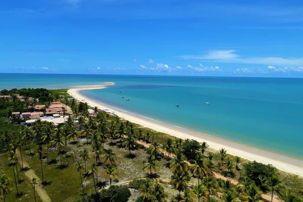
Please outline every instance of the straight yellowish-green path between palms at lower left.
M19 149L16 149L16 155L18 157L18 162L20 165L22 165L21 162L21 155L20 155L20 151ZM30 168L30 166L27 164L26 161L23 161L23 167L24 168ZM35 171L33 171L32 169L29 169L28 171L24 172L25 176L31 181L33 177L38 178L38 176L35 174ZM38 180L40 181L40 179L38 178ZM41 200L43 202L51 202L51 198L47 195L46 191L42 188L41 184L39 184L38 186L35 187L36 188L36 193L38 194L38 196L41 198Z

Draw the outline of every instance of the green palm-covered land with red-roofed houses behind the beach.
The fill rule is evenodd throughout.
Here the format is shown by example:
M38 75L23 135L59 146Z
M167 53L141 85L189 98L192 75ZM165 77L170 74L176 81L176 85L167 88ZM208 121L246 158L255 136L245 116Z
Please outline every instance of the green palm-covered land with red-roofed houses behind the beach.
M297 175L131 123L66 89L0 95L0 201L303 201Z

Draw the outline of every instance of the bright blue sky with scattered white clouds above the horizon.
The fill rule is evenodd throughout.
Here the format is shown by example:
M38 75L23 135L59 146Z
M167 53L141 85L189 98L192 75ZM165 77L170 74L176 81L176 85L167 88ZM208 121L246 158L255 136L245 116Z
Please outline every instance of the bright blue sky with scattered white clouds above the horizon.
M303 77L301 1L0 3L0 72Z

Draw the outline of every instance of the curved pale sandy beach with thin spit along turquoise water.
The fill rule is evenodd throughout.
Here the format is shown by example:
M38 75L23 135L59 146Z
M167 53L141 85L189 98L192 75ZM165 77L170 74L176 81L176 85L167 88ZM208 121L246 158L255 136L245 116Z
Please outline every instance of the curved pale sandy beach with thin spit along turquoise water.
M291 159L288 157L280 156L277 154L270 153L258 148L238 144L225 139L220 139L210 135L198 133L195 131L186 130L177 126L165 124L159 121L155 121L146 117L137 116L135 114L102 104L96 100L90 99L83 96L80 91L88 89L102 89L106 88L107 85L114 85L115 83L107 82L102 85L92 86L75 86L73 89L69 89L68 93L81 102L86 102L88 105L98 107L100 110L108 109L109 111L115 111L115 114L125 120L142 125L153 130L167 133L169 135L179 137L182 139L194 139L198 142L206 141L211 148L219 150L220 148L227 149L227 153L239 156L249 161L257 161L263 164L272 164L279 170L293 173L303 177L303 161Z

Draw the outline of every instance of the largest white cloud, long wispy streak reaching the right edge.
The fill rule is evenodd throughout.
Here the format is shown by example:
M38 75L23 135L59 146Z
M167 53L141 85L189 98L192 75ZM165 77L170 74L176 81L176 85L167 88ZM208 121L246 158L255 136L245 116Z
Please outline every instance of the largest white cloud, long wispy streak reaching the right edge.
M221 63L243 63L278 66L302 66L303 58L281 57L244 57L235 54L235 50L210 51L205 55L185 55L183 59L212 60Z

